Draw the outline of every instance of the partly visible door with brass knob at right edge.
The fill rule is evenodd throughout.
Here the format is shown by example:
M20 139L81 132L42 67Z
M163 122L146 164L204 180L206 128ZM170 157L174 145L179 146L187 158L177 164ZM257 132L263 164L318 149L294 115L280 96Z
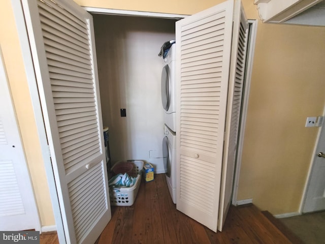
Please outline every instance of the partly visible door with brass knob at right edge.
M320 128L303 212L313 212L325 209L325 158L318 157L319 153L325 155L324 125Z

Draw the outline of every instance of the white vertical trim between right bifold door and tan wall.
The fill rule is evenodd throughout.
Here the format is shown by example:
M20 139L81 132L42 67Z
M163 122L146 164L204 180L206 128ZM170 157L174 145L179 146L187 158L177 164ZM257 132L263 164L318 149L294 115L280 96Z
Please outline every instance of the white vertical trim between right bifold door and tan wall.
M240 176L241 161L242 161L242 154L243 154L244 134L245 134L248 99L249 99L249 91L250 91L250 81L251 81L252 70L253 70L253 60L254 60L258 20L249 19L248 23L251 26L251 32L249 34L249 46L248 46L247 64L246 64L247 68L246 68L246 77L245 77L245 87L243 91L244 98L242 101L241 124L240 124L240 132L239 132L238 148L237 148L237 159L236 159L234 190L233 190L233 200L232 200L233 205L238 205L237 195L238 195L238 186L239 186L239 176Z

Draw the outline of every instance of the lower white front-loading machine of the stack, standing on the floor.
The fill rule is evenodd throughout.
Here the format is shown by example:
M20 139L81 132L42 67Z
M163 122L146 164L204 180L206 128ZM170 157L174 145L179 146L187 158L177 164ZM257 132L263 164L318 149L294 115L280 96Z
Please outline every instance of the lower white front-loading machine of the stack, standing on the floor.
M166 181L172 200L176 203L176 133L164 125L163 159Z

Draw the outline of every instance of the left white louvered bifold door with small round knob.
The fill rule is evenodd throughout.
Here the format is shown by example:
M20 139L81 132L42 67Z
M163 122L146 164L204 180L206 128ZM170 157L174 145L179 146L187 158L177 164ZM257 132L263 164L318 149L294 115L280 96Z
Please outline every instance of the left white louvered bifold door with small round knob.
M111 211L92 17L70 0L22 2L64 235L94 243Z

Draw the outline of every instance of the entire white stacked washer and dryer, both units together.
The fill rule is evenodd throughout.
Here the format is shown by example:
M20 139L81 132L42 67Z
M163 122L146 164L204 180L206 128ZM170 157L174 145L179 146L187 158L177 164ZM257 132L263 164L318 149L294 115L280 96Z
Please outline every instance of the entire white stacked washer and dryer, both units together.
M172 200L176 203L176 71L175 41L164 56L161 72L161 102L164 108L163 157L166 179Z

